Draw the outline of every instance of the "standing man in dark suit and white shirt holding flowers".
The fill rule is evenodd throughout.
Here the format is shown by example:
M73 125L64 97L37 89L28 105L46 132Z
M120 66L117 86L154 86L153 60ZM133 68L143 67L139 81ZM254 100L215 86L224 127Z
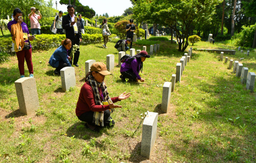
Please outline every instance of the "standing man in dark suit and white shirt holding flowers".
M65 15L62 18L62 28L66 30L66 37L69 38L72 41L72 47L68 51L68 55L70 55L73 46L76 44L79 46L79 43L82 41L82 34L80 30L80 20L77 19L75 16L75 7L73 5L67 6L67 12L68 14ZM77 51L74 53L74 65L78 67L77 64L79 59L80 51L77 49ZM72 65L73 57L70 60L70 64Z

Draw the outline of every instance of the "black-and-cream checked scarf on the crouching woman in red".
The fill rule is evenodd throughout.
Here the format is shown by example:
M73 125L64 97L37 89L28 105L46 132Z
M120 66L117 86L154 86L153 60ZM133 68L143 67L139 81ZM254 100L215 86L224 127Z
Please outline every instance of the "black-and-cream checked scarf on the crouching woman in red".
M110 97L108 95L107 86L104 82L98 83L96 80L94 80L94 77L93 77L92 74L90 74L87 77L86 80L90 83L91 87L93 88L93 93L94 93L94 96L95 96L95 104L96 105L102 105L101 97L100 97L98 88L101 88L101 91L102 91L102 94L103 94L103 97L104 97L104 99L102 99L103 101L108 101L108 99L110 99ZM111 113L113 111L114 111L114 109L112 108ZM104 126L103 116L104 116L103 111L94 112L94 114L93 114L93 123L95 123L97 126L102 126L103 127Z

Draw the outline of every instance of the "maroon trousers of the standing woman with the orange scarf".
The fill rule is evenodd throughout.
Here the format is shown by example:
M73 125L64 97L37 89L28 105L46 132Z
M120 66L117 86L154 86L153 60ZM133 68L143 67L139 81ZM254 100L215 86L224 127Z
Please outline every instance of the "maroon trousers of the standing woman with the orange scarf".
M29 50L22 50L16 52L17 59L18 59L18 66L20 70L20 75L24 75L24 61L26 60L29 74L33 74L33 63L32 63L32 48Z

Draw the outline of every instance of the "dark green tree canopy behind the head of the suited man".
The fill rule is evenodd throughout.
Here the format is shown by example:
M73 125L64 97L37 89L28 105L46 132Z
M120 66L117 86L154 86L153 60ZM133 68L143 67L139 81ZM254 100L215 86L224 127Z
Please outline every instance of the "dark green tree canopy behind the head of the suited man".
M92 18L93 16L95 16L95 11L93 9L90 9L89 6L83 6L79 2L79 0L70 0L70 3L75 6L75 11L78 12L79 14L82 14L82 16L87 18ZM60 0L60 4L68 5L69 0Z

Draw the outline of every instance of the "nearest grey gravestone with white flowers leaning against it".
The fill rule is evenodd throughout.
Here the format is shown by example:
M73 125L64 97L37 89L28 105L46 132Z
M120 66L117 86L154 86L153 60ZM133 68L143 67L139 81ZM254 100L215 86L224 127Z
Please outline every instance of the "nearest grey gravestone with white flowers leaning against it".
M142 125L140 155L150 159L157 137L158 113L148 112Z

